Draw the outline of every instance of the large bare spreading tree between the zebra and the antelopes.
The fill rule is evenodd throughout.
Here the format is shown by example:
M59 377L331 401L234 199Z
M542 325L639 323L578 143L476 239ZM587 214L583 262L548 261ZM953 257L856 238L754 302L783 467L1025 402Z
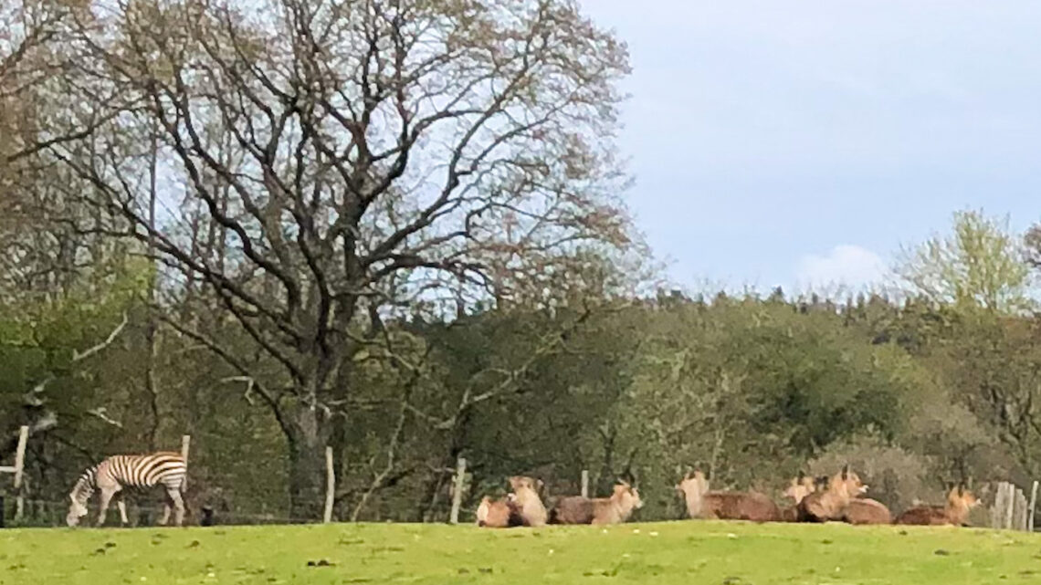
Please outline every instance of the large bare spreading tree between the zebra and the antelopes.
M262 371L172 321L271 407L296 517L321 513L360 307L454 308L460 282L471 301L537 297L629 243L612 156L627 53L574 1L146 1L103 19L77 39L77 98L110 112L97 156L53 151L168 284L203 283L261 351ZM186 204L162 226L132 139L152 124L161 188ZM184 237L188 207L226 234L222 256Z

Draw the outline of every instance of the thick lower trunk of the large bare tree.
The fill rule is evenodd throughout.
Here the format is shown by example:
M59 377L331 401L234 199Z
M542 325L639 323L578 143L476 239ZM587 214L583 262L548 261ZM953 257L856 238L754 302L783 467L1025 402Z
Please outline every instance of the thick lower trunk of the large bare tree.
M289 517L321 520L325 506L325 448L332 425L315 408L301 406L289 430Z

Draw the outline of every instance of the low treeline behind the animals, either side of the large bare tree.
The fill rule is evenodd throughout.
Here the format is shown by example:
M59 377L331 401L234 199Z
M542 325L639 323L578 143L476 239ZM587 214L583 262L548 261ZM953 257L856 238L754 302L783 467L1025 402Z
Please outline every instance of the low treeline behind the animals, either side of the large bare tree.
M189 433L197 508L287 517L285 436L249 381L168 329L150 357L147 311L115 299L5 315L2 424L36 429L30 498L60 502L104 454ZM111 345L72 363L123 314ZM443 519L458 456L469 509L510 475L568 493L588 469L600 493L637 478L649 518L681 514L672 485L693 466L777 494L799 470L849 462L894 509L950 482L1022 483L1041 454L1037 327L922 298L780 294L387 322L385 353L353 357L355 389L337 405L337 517Z

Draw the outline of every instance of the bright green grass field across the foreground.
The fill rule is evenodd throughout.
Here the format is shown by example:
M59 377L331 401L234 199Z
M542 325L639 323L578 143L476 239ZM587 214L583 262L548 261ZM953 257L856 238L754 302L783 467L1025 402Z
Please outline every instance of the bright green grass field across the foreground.
M0 584L1041 583L1041 538L955 528L674 522L529 530L332 525L0 531Z

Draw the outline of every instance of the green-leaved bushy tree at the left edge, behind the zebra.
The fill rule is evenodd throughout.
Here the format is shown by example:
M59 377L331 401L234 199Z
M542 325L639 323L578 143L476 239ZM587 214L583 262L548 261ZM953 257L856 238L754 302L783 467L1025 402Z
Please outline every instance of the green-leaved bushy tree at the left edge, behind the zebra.
M122 421L132 418L136 397L124 342L143 282L131 265L60 298L0 305L0 458L14 452L18 427L28 426L37 498L67 489L66 474L126 437Z

